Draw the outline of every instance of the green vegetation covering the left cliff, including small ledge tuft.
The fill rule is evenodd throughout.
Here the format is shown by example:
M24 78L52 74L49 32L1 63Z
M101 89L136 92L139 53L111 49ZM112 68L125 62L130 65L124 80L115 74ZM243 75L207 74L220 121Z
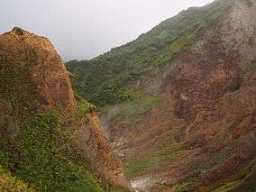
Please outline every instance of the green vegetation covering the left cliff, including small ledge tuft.
M60 131L65 112L60 113L63 108L58 104L53 106L58 112L43 111L46 104L29 70L37 63L38 51L26 43L22 46L26 54L15 58L16 51L7 49L0 60L0 191L125 191L98 180L88 171L90 165L68 157ZM78 116L67 114L70 118L96 108L78 100Z

